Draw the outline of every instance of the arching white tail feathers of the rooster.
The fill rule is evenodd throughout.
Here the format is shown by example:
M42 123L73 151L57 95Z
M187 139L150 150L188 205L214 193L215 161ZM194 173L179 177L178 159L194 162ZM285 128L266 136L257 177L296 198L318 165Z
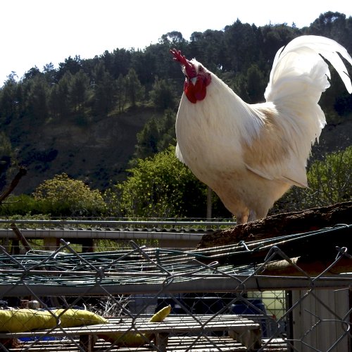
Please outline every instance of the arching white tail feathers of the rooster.
M332 39L308 35L293 39L275 56L265 99L279 111L291 149L300 160L308 158L311 144L319 139L326 123L318 101L330 85L330 72L322 56L352 92L351 77L338 53L352 65L344 46Z

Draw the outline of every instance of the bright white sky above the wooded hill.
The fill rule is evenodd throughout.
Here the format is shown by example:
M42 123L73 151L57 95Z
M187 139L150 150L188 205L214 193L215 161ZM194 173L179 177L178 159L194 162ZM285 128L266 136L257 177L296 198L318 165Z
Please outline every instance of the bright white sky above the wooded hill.
M114 49L144 49L174 30L223 30L237 19L257 27L287 23L304 27L321 13L352 15L348 0L1 0L0 86L14 71L94 58Z

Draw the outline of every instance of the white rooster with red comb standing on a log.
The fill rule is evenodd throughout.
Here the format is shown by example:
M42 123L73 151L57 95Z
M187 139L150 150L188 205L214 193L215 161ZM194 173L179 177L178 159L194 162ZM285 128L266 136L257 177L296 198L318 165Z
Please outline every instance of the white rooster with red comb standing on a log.
M265 218L292 185L307 187L306 162L325 126L318 101L330 73L322 56L352 93L339 54L351 65L352 58L343 46L318 36L293 39L277 51L266 102L258 104L245 103L195 59L171 53L186 76L177 157L218 194L237 223Z

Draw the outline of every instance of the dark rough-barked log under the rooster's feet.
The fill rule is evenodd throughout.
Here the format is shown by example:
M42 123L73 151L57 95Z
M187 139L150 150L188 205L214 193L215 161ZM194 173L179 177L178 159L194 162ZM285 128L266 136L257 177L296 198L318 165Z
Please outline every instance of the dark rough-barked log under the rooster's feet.
M316 275L332 263L334 272L328 275L351 272L352 202L273 215L205 234L198 248L206 261L233 265L264 263L270 254L264 275L302 275L298 268ZM287 257L296 258L296 265Z

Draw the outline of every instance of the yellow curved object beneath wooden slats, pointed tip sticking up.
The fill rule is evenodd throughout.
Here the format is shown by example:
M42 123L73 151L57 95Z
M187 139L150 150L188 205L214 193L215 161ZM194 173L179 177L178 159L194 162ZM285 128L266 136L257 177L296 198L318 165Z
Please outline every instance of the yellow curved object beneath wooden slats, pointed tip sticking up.
M162 322L171 312L170 304L157 313L155 313L149 322ZM138 334L136 332L114 332L111 334L98 335L99 338L104 339L116 346L124 347L139 347L146 344L146 339L151 341L153 334Z

